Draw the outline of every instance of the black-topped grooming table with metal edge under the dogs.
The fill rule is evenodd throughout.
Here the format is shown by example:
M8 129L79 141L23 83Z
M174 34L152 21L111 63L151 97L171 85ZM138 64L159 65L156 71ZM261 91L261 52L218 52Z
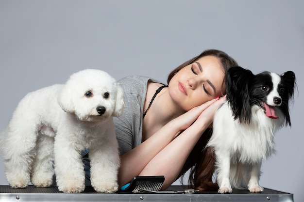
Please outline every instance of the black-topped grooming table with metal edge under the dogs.
M170 186L168 190L181 191L185 186ZM293 202L293 194L265 188L262 193L235 189L231 194L217 191L195 193L97 193L87 186L82 193L65 194L57 186L36 188L32 185L24 189L14 189L0 185L0 202Z

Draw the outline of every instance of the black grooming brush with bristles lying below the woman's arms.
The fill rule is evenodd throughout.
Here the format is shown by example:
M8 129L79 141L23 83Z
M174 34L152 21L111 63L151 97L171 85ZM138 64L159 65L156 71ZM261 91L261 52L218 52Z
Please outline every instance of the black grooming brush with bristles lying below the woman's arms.
M131 183L121 187L122 191L133 193L141 193L141 190L158 191L163 186L165 177L160 176L137 176L134 177Z

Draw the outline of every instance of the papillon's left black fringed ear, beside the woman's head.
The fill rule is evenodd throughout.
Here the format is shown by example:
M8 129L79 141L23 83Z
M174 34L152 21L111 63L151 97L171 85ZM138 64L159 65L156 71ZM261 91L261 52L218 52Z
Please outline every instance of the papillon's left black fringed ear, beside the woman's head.
M248 82L253 73L242 67L231 67L226 73L226 98L230 104L234 119L239 122L250 123L251 105L248 91Z

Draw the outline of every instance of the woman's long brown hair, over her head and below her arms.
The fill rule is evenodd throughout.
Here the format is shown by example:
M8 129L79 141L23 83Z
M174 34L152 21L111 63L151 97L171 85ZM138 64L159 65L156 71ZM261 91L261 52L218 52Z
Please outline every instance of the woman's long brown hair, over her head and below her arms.
M196 62L204 56L217 57L225 73L230 67L237 66L237 62L225 52L216 49L208 49L203 51L200 55L176 67L168 76L168 84L176 72L180 71L185 66ZM225 84L223 83L223 85ZM225 92L222 93L225 94ZM211 148L205 148L211 135L212 128L207 128L203 132L203 135L192 149L180 173L180 175L184 177L185 172L190 169L188 180L189 184L198 190L214 190L218 188L217 184L213 183L212 181L215 165L215 154Z

